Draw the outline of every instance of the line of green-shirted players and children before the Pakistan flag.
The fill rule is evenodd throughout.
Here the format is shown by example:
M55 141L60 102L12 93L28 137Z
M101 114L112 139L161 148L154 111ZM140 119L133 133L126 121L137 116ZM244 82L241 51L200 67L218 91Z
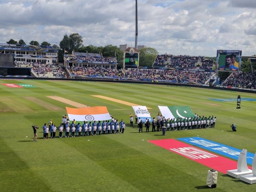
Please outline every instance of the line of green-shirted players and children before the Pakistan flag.
M163 121L163 120L162 120ZM164 124L166 130L187 130L187 129L204 129L204 128L214 128L216 122L216 117L197 117L194 119L168 119ZM156 122L156 126L158 127L158 122ZM161 122L160 122L161 126ZM158 128L157 128L158 129ZM159 129L158 129L159 130Z

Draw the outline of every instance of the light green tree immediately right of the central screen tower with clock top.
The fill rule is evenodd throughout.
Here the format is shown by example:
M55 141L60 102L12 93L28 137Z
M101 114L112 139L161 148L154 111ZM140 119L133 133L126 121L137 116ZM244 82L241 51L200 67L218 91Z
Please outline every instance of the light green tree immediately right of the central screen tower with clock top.
M152 47L145 47L139 50L139 66L152 66L158 51Z

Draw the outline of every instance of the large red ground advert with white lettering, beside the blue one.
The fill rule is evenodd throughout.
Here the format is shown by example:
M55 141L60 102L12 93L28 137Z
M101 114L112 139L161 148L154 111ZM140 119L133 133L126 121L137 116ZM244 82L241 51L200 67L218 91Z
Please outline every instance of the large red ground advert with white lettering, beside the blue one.
M224 158L175 139L150 140L149 142L223 174L226 174L227 170L237 169L237 161Z

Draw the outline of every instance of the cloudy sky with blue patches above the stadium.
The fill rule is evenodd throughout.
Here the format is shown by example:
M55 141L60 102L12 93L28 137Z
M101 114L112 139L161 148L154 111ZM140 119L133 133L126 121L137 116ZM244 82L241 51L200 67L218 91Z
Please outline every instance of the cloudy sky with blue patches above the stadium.
M255 0L138 0L138 45L159 53L214 57L217 49L256 54ZM0 0L0 43L134 45L135 0Z

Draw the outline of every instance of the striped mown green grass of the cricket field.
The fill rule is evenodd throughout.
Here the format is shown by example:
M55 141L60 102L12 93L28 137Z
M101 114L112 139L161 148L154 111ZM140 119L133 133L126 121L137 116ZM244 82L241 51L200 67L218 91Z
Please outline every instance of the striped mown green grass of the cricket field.
M2 84L30 84L11 88ZM89 106L107 106L126 122L125 134L42 139L49 119L59 125L73 107L46 96L60 96ZM189 105L194 113L216 116L213 129L138 133L129 127L132 107L91 95L103 95L146 105L156 117L158 105ZM256 102L218 102L210 98L254 98L255 94L162 85L80 81L0 80L1 191L208 191L209 167L172 153L148 140L199 137L256 152ZM37 98L34 102L27 97ZM133 113L134 114L134 113ZM32 142L32 124L40 126ZM236 123L237 132L230 132ZM145 128L144 128L145 129ZM150 128L151 130L151 128ZM57 133L58 134L58 133ZM26 137L28 136L28 137ZM88 141L90 140L90 141ZM216 162L218 164L218 162ZM219 172L214 191L256 191L239 179Z

